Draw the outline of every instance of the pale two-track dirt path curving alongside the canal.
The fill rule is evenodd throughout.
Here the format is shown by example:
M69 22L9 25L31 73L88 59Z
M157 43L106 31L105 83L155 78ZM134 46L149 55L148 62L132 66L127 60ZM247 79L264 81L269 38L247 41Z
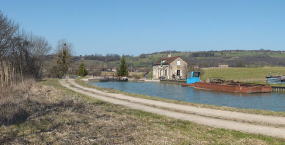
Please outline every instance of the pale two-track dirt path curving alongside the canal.
M77 88L70 87L70 84L65 80L60 81L63 86L78 93L113 104L127 106L132 109L188 120L216 128L233 129L242 132L285 138L285 117L253 115L166 103L122 94L102 92L93 88L80 86L72 79L69 79L68 82Z

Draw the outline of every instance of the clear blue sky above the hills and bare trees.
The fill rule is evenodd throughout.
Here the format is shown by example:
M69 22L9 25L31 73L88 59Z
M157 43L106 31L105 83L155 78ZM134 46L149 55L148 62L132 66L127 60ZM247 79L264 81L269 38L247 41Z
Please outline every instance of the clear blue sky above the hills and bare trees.
M285 0L0 0L0 10L76 55L285 50Z

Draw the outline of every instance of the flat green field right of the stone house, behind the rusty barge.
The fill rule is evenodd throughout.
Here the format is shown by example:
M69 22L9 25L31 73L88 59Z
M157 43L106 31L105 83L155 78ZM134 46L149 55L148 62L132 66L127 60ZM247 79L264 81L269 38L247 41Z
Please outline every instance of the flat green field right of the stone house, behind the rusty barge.
M285 67L262 68L203 68L201 80L210 78L222 78L225 80L237 80L242 82L265 82L266 76L285 75Z

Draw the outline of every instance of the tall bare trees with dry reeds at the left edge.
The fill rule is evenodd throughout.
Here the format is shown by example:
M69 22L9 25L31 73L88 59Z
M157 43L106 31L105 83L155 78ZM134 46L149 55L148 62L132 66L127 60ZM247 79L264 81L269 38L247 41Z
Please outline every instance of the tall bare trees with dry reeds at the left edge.
M44 37L20 30L0 11L0 85L10 85L25 78L40 79L44 57L51 50Z

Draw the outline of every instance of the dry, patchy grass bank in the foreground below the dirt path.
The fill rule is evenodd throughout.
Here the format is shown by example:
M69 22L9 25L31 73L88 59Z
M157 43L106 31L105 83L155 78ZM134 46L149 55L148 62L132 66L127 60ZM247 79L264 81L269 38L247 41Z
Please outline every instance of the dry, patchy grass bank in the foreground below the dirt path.
M23 86L30 87L22 89ZM67 90L58 80L23 86L10 92L12 100L1 98L0 118L9 118L4 113L11 110L7 106L18 106L26 111L26 119L10 124L2 122L0 144L282 144L285 141L109 104ZM11 111L10 118L15 114L17 111Z

